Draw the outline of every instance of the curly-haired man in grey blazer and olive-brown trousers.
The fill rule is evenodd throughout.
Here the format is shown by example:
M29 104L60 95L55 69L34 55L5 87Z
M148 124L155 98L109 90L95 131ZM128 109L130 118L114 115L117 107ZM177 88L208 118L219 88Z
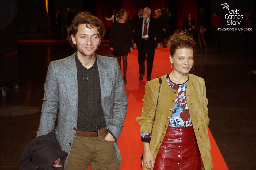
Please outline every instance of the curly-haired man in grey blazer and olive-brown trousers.
M120 169L117 139L126 116L127 96L116 58L95 52L105 29L89 12L75 16L68 40L77 51L50 63L37 136L54 130L63 151L52 166L65 169ZM59 111L58 111L59 110Z

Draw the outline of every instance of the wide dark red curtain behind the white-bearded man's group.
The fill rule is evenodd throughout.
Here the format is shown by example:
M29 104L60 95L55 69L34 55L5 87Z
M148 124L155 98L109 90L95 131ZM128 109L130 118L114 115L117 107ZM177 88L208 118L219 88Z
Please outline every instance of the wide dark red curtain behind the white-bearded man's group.
M105 16L110 18L114 9L117 11L120 9L125 9L130 12L129 16L132 20L133 15L137 13L138 8L149 7L151 9L151 15L154 16L154 11L158 8L168 8L168 1L166 0L96 0L95 1L95 16L101 19L107 31L110 30L112 21L106 21Z

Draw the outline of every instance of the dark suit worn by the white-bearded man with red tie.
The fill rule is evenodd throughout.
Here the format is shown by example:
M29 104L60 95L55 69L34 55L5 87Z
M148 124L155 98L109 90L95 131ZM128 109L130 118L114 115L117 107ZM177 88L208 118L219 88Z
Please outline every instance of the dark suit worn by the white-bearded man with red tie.
M151 78L155 49L161 43L159 24L155 18L150 18L148 25L148 40L142 39L143 18L137 22L133 43L138 49L139 74L145 73L145 60L147 55L147 78Z

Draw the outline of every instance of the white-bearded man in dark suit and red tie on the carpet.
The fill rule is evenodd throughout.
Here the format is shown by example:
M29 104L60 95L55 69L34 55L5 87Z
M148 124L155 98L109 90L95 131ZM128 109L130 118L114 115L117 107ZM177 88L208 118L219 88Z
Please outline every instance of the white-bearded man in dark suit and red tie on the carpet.
M137 22L133 47L138 49L139 81L145 74L145 60L147 55L147 81L151 80L151 73L156 47L161 46L160 28L155 18L151 16L151 9L143 9L143 18ZM143 31L142 31L143 30Z

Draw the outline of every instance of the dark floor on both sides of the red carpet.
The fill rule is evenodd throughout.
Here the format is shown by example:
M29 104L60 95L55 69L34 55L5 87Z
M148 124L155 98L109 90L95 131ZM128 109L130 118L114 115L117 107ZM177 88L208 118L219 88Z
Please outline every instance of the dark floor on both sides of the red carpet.
M18 52L20 87L10 87L5 97L0 96L0 110L14 106L26 108L27 113L32 107L40 110L48 64L71 55L74 49L66 42L18 43ZM101 43L97 53L111 56L107 43ZM256 76L251 74L256 70L255 55L209 49L195 56L195 74L204 78L211 103L209 128L228 168L256 169ZM0 114L1 170L17 169L23 147L36 136L39 119L40 111L23 116Z

